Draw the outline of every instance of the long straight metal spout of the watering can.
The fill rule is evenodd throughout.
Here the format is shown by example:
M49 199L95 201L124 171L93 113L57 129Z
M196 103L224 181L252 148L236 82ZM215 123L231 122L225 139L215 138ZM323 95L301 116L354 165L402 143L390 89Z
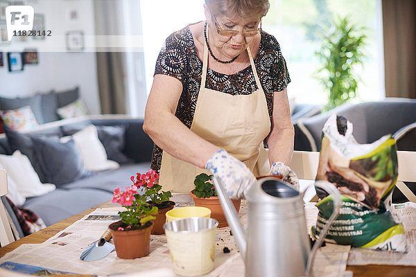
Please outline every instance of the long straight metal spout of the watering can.
M245 250L247 249L247 243L245 242L245 230L243 225L241 224L239 217L237 216L236 208L229 199L227 193L225 192L225 188L220 183L218 179L214 176L213 178L214 186L220 199L221 206L223 207L223 211L225 217L227 218L227 222L231 227L232 234L236 240L237 246L240 249L241 256L245 259Z

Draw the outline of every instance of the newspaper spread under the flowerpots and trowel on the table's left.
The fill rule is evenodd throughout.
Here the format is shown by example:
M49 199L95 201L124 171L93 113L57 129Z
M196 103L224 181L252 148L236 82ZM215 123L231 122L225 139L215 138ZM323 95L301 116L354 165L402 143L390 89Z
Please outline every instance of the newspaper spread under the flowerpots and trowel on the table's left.
M172 200L177 203L177 206L193 205L189 195L174 195ZM55 271L98 276L128 274L164 267L172 269L173 264L165 235L151 235L150 254L144 258L123 260L116 256L116 251L112 251L105 258L94 262L80 260L80 255L85 248L98 240L110 223L119 220L118 212L120 210L121 207L98 208L42 244L22 244L0 258L0 267L5 262L9 262L9 265L10 262L15 262ZM241 206L242 221L245 221L246 211L247 207L243 202ZM207 277L224 276L221 272L224 266L228 265L227 260L233 258L235 254L240 256L234 238L229 235L229 231L229 227L217 230L215 269L207 274ZM228 247L230 253L223 253L224 247Z

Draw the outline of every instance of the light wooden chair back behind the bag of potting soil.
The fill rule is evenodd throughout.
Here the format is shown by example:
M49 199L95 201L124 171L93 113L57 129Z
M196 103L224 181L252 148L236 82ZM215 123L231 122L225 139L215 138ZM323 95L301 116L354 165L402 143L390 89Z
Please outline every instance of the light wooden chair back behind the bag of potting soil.
M294 151L291 169L296 172L299 179L315 180L318 172L319 152ZM416 152L397 151L397 163L399 176L397 177L396 187L411 202L416 202L415 194L404 184L404 181L416 181ZM306 195L305 195L306 196ZM304 197L304 199L315 199L315 197Z

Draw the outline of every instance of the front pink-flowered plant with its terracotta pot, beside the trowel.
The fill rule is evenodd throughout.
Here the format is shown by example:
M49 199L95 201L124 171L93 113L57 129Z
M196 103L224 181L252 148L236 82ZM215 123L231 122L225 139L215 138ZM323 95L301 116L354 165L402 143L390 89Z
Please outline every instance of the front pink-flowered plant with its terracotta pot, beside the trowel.
M157 207L146 202L146 196L139 195L137 186L116 188L112 203L119 203L124 211L119 211L121 220L110 224L110 232L119 258L134 259L148 256L150 251L150 231L157 214Z

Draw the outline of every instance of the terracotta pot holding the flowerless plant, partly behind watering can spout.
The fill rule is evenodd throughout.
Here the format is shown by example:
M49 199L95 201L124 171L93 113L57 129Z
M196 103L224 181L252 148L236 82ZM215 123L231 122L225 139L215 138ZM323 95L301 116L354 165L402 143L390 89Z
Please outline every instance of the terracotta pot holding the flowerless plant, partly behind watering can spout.
M195 206L202 206L211 210L211 218L218 220L218 228L228 226L227 219L225 218L223 208L221 207L220 199L218 196L211 196L208 198L196 197L193 190L189 193L195 202ZM237 213L240 211L241 199L231 199L232 204L236 208Z

